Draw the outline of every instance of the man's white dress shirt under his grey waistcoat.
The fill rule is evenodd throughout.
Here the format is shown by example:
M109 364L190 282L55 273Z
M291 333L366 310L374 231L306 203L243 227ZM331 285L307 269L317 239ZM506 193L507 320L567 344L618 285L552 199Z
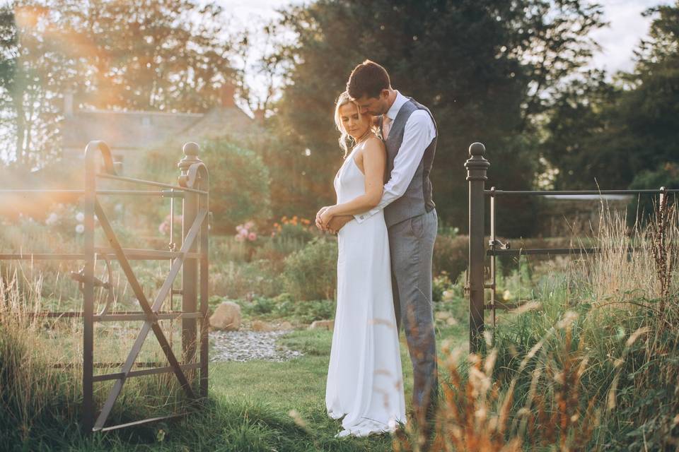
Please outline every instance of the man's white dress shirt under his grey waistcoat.
M399 110L408 100L396 91L396 99L386 114L391 119L392 125ZM405 123L403 141L394 158L394 168L391 170L389 181L384 185L382 199L372 210L354 215L356 222L363 222L405 194L419 162L422 161L424 150L429 147L435 137L436 126L429 113L424 110L412 112Z

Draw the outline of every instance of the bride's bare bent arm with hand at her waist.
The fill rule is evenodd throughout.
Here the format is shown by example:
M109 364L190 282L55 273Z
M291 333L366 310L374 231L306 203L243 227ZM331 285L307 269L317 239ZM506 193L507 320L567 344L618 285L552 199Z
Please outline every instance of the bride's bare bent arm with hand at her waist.
M387 155L384 143L378 138L368 138L363 152L366 193L356 196L356 198L346 203L330 206L323 214L327 221L330 221L335 216L355 215L377 206L382 199L386 164Z

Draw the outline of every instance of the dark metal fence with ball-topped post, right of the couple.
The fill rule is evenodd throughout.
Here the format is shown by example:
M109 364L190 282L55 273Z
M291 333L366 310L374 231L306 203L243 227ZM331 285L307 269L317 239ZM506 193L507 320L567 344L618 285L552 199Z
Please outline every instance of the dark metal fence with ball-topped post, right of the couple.
M469 182L469 261L467 266L467 281L465 293L469 297L469 348L470 352L478 352L482 346L485 311L492 311L493 325L495 325L496 309L512 309L517 304L497 302L496 286L496 258L498 256L520 256L530 254L596 254L597 248L562 248L562 249L511 249L511 244L501 243L497 239L495 212L497 199L502 196L542 196L542 195L610 195L610 194L658 194L659 209L662 213L667 206L668 194L676 194L679 189L658 190L497 190L494 186L485 189L485 181L490 162L485 158L486 148L482 143L472 143L469 147L469 159L465 162L467 180ZM489 241L484 243L484 216L486 198L489 200L490 234ZM634 251L629 248L628 251ZM489 257L490 282L484 278L485 259ZM486 290L490 290L490 300L486 304Z

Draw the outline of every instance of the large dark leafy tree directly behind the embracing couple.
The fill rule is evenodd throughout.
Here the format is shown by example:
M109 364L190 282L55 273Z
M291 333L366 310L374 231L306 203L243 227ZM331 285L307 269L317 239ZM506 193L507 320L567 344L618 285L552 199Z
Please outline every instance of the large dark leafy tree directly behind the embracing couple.
M305 173L315 201L306 214L332 202L342 155L332 107L349 72L369 58L388 69L395 88L434 113L434 199L441 218L462 229L470 143L487 145L489 184L530 188L537 160L531 118L542 109L539 99L591 54L586 35L601 25L598 8L575 0L320 0L289 8L282 23L298 35L296 45L282 49L294 69L279 112L284 129L311 150L298 157L291 176ZM530 201L503 202L503 233L528 233Z

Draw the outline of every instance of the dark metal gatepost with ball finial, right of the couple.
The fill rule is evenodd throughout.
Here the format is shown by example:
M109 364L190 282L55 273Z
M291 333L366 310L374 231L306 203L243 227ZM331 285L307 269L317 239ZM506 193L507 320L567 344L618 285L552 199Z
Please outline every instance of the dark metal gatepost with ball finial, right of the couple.
M488 179L487 169L490 166L484 154L486 148L482 143L472 143L469 147L469 159L465 162L467 180L469 181L469 350L477 353L481 350L484 322L484 184Z

